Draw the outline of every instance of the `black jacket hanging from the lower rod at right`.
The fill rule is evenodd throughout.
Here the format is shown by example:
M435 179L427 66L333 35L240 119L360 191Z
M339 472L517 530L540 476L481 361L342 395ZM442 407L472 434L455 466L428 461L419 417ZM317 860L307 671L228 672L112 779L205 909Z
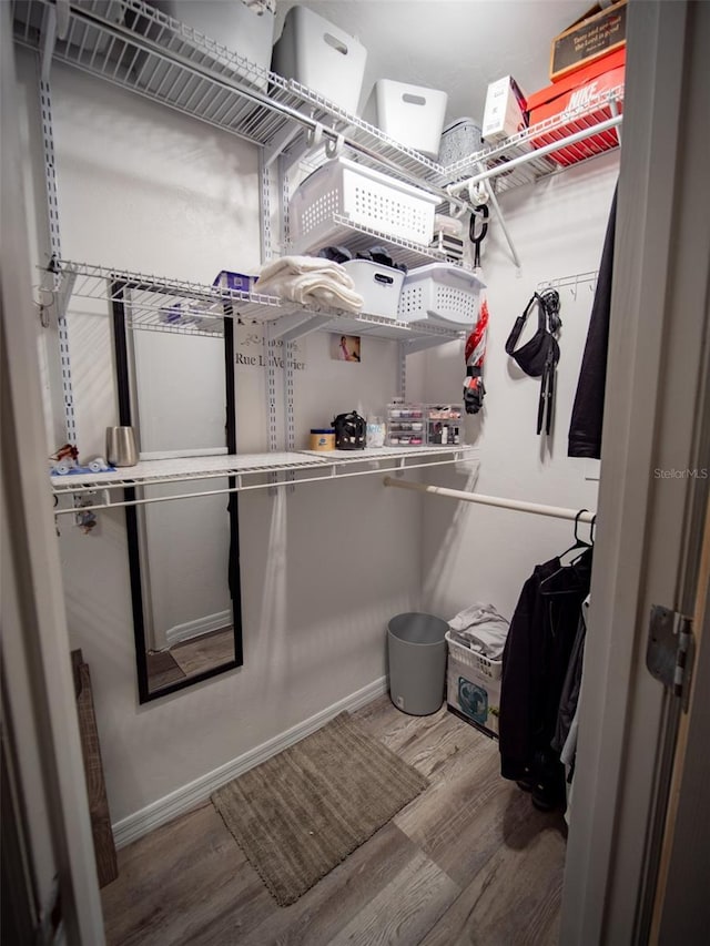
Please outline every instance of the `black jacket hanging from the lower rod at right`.
M575 566L562 567L559 558L536 566L520 592L503 654L498 747L504 779L529 777L536 756L559 764L550 743L589 593L591 556L588 549Z

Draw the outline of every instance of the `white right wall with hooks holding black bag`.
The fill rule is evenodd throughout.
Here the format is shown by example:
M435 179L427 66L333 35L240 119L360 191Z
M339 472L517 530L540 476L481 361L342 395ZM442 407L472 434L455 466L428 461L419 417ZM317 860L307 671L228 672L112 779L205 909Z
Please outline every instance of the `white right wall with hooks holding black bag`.
M596 510L597 481L586 474L596 461L567 456L567 434L581 363L592 293L580 285L575 298L560 289L562 329L552 435L536 434L540 384L524 375L505 353L513 324L538 284L598 269L618 173L618 155L525 186L500 201L521 261L518 273L500 228L489 227L483 268L490 311L486 354L485 410L467 418L468 443L480 448L476 490L532 502ZM537 311L529 333L537 327ZM524 338L528 337L528 334ZM427 399L460 397L465 375L460 346L428 354ZM440 485L466 488L444 468ZM427 607L443 618L475 601L491 602L510 617L532 567L572 545L572 523L524 512L437 497L424 505L424 589ZM588 537L588 528L584 531Z

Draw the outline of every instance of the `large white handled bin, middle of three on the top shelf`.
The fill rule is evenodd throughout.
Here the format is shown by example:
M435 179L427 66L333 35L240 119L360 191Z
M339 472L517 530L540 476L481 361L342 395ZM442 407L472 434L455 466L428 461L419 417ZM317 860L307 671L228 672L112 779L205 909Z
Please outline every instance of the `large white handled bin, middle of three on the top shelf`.
M367 50L324 17L295 6L274 44L272 69L357 114Z

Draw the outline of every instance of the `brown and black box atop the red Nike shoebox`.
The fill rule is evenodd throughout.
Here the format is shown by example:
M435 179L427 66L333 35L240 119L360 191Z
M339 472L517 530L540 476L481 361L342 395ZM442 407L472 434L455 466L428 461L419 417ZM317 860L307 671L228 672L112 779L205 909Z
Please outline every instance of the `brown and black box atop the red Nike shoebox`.
M627 0L616 0L606 9L592 7L555 37L550 54L552 82L626 45L626 4Z

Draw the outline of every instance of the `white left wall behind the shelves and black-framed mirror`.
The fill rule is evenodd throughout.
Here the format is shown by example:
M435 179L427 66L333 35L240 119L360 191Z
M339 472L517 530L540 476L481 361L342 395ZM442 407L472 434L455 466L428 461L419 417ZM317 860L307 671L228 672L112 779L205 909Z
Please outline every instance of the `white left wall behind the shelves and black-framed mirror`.
M52 91L67 258L209 283L257 265L254 148L60 65ZM36 134L33 152L39 161ZM82 455L100 452L118 423L109 318L90 305L98 314L74 305L70 326ZM237 348L261 350L253 335L243 326ZM300 343L300 446L310 426L382 409L394 393L394 343L363 339L355 365L331 360L328 342ZM240 450L265 449L262 368L237 365L237 405ZM70 519L60 520L68 621L91 668L114 822L379 679L387 620L418 606L419 517L377 477L244 495L244 667L139 706L123 513L100 513L90 536Z

